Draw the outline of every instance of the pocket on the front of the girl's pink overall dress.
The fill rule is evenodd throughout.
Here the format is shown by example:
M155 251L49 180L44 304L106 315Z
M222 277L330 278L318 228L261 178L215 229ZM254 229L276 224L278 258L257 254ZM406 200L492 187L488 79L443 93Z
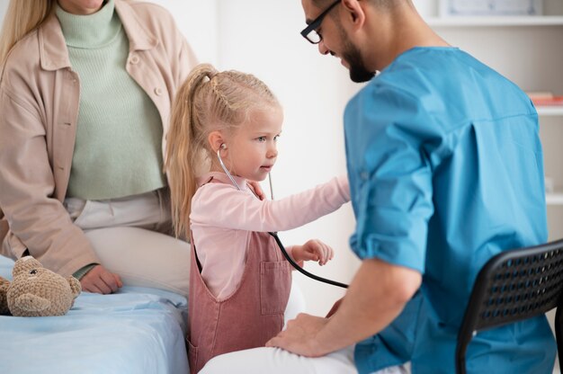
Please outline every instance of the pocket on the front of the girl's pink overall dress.
M260 263L260 309L263 316L283 314L290 289L291 270L287 261Z

